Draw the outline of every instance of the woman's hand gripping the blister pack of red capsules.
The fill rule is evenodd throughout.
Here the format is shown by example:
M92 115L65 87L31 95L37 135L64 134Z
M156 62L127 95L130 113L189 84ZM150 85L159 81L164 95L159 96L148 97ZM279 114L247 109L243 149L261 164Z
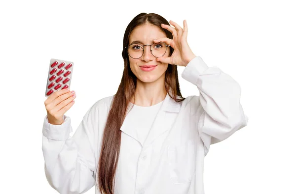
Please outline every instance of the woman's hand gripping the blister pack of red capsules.
M61 89L53 92L45 101L48 122L53 125L61 125L64 122L64 114L74 104L75 91Z

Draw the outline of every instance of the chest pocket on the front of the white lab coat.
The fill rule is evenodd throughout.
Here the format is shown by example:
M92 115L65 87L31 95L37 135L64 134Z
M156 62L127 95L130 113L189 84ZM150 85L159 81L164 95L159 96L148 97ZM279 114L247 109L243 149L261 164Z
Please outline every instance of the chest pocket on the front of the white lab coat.
M194 141L188 140L185 144L168 145L168 165L170 179L174 184L191 182L195 171Z

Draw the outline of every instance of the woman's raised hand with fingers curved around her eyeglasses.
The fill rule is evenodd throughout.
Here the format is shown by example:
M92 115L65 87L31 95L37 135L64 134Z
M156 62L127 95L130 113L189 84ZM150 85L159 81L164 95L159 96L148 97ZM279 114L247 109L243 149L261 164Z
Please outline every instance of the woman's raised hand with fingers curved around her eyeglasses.
M170 39L167 37L158 38L158 39L155 39L154 42L164 42L165 44L173 47L174 52L170 57L161 56L156 58L156 60L163 63L186 66L190 62L190 60L196 57L196 55L192 53L187 43L186 20L183 21L184 30L177 23L171 20L170 20L170 24L173 25L175 28L165 24L161 24L161 27L172 32L173 39Z

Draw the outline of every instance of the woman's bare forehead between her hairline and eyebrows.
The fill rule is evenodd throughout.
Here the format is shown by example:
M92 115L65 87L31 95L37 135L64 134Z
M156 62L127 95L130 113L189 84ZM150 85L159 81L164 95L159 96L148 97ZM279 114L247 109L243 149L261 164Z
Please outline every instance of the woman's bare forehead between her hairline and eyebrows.
M153 42L153 39L166 37L166 34L159 29L159 27L145 24L135 28L129 39L129 44L134 41L140 41L143 44L150 44Z

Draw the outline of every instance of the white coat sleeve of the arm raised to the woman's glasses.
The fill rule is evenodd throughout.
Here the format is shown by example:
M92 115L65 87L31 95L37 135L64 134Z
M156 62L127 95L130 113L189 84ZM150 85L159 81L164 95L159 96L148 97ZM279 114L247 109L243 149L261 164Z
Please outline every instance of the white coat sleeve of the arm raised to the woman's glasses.
M240 104L241 88L218 67L208 67L200 56L187 64L182 78L196 85L200 93L192 98L192 104L197 106L195 126L207 155L210 144L227 139L247 125L248 116Z

